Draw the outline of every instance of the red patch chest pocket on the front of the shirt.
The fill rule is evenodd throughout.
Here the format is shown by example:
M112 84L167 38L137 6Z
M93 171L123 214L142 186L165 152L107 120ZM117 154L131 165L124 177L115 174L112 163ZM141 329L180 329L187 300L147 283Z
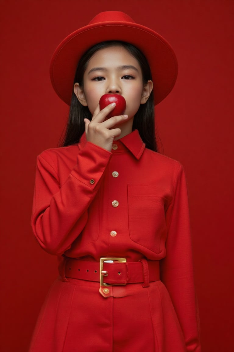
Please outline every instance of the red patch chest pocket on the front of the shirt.
M128 225L132 241L160 253L166 236L165 199L155 187L128 185Z

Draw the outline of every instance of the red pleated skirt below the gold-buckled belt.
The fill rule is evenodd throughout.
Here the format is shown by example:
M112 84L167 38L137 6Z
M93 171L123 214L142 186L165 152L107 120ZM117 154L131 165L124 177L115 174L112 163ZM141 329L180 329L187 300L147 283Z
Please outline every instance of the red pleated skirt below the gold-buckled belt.
M42 306L29 352L185 352L171 298L161 281L113 286L58 279Z

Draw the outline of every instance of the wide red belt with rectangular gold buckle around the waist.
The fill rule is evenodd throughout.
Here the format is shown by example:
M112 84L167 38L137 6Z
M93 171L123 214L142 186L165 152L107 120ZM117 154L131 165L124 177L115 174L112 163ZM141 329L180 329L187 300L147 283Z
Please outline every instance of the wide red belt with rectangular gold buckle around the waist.
M112 260L112 263L106 262ZM60 273L61 274L61 273ZM141 259L139 262L127 262L125 258L101 258L100 262L89 262L67 258L64 276L74 279L100 281L100 285L126 285L160 280L159 260Z

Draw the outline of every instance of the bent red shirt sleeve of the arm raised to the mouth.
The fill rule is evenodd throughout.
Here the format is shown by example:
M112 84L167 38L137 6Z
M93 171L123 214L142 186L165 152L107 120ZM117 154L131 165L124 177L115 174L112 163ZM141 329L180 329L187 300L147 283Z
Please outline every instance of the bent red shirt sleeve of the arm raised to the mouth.
M111 152L87 142L66 180L61 179L64 172L56 163L56 149L38 156L32 228L44 250L62 254L71 247L86 224L87 209L111 156Z

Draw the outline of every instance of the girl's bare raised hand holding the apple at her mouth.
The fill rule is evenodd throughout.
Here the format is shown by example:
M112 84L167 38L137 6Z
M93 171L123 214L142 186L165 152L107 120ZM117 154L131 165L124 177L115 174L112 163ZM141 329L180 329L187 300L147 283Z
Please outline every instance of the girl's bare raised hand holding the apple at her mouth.
M114 109L115 103L107 105L100 111L100 107L95 109L91 121L85 121L85 133L88 142L98 145L103 149L111 151L114 138L120 136L120 128L110 128L127 120L128 115L113 116L107 120L105 118ZM105 121L104 121L105 120Z

